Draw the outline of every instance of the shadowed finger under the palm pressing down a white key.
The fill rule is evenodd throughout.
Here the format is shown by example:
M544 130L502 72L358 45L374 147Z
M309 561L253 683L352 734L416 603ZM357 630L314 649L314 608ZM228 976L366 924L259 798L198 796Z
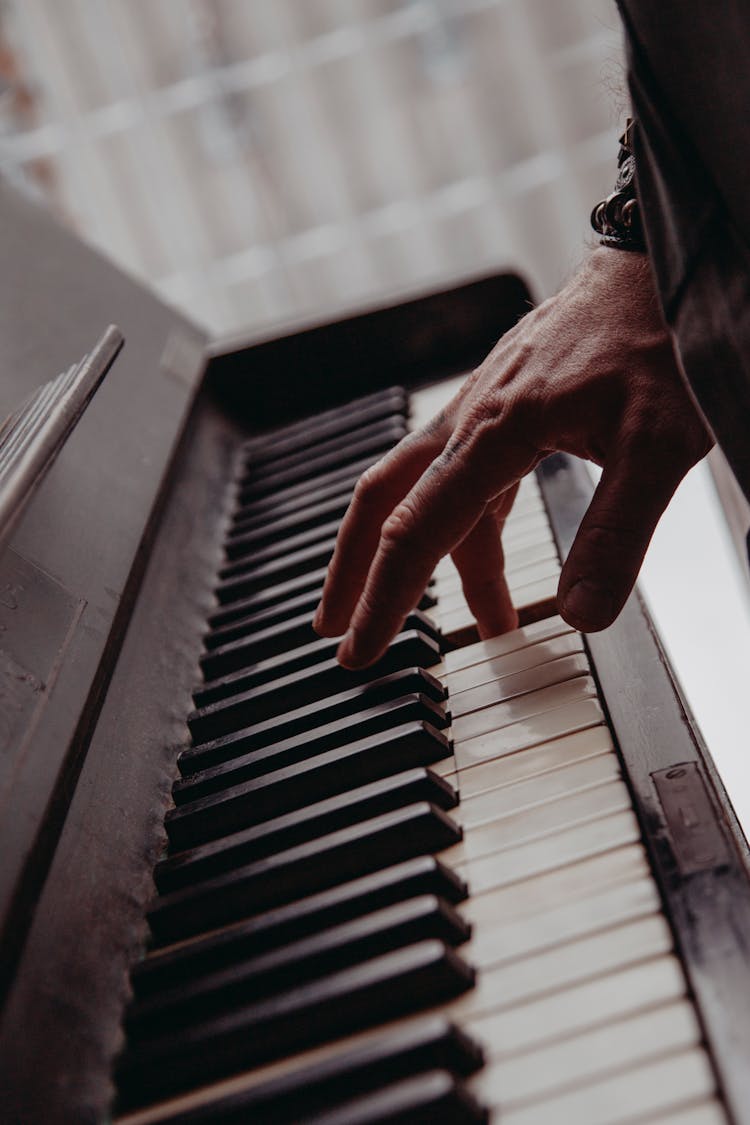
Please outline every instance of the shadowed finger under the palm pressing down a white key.
M463 596L482 639L507 632L518 624L518 614L505 579L500 538L517 490L517 485L508 488L497 508L486 511L451 552L461 575Z

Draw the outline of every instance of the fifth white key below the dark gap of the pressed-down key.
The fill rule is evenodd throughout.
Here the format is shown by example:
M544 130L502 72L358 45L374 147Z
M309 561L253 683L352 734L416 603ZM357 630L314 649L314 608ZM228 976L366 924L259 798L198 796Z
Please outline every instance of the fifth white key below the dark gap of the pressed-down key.
M549 742L553 738L562 738L564 735L586 730L587 727L597 727L602 722L604 713L598 699L569 703L553 711L514 722L501 730L488 730L477 738L457 742L455 764L460 771L477 762L489 762L506 754L517 754L541 742Z

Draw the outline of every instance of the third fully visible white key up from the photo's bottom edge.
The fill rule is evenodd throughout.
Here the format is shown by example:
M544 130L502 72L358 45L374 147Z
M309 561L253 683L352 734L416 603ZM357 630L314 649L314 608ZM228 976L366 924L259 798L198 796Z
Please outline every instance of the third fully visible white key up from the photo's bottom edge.
M491 953L490 961L482 964L470 946L463 954L479 969L479 988L489 996L485 1001L498 1010L667 954L671 947L666 919L653 914L505 964L493 964ZM479 1010L475 993L467 992L451 1015L463 1022L464 1014L476 1015Z

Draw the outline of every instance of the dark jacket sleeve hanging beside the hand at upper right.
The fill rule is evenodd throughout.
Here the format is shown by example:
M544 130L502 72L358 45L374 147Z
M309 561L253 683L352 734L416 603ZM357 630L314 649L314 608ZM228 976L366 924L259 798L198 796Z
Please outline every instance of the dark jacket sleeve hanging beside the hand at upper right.
M665 315L750 497L750 4L620 0L620 10Z

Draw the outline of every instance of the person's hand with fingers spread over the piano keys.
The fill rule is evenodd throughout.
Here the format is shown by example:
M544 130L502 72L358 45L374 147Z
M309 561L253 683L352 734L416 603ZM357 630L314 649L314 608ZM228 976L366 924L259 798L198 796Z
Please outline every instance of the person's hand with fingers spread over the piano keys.
M642 254L599 249L506 333L449 404L362 476L315 615L338 659L376 660L450 554L481 637L515 628L500 534L518 482L562 451L603 474L558 587L593 632L616 618L675 488L713 439Z

